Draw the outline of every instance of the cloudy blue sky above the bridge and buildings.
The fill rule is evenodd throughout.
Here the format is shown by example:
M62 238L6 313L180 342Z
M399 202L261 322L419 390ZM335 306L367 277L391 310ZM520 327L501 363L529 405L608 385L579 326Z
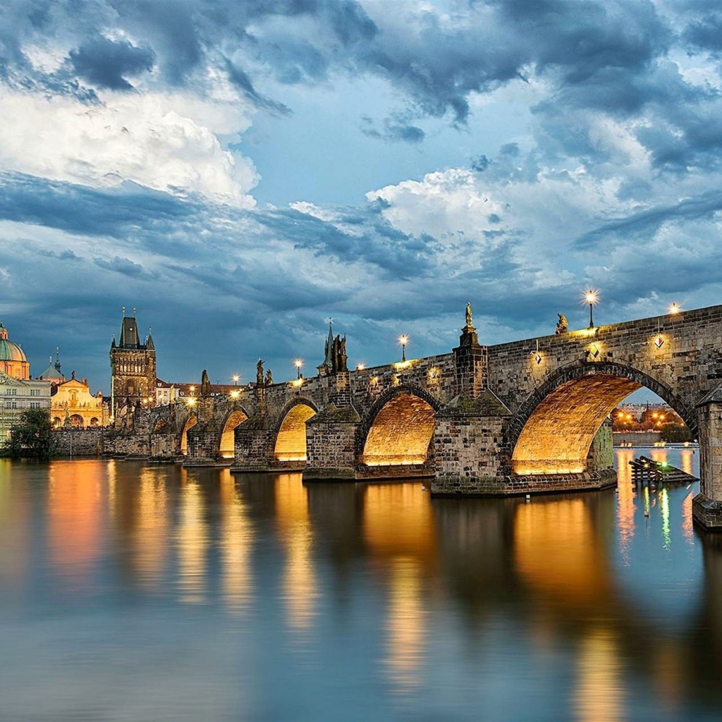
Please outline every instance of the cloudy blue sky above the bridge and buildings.
M0 319L108 391L721 300L718 0L4 0Z

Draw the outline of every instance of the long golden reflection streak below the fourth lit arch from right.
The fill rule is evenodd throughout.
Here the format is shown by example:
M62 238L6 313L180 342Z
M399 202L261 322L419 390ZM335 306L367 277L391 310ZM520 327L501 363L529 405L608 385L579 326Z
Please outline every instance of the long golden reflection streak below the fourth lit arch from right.
M228 469L221 471L219 483L223 601L230 612L239 614L247 608L253 592L253 527Z

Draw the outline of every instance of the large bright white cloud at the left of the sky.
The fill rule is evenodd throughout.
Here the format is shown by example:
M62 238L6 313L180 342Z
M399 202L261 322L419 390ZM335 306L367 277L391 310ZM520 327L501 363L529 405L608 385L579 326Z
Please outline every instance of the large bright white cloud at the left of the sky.
M102 105L66 96L4 90L0 164L7 170L88 186L134 181L163 191L202 193L250 208L253 162L216 135L248 128L238 102L161 92L112 93Z

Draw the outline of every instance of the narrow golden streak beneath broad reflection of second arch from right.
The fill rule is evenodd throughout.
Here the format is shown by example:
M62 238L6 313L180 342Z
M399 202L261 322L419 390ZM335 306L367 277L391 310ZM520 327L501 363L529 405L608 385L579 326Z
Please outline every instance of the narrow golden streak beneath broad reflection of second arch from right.
M421 684L419 670L425 659L427 612L422 600L422 578L417 560L393 561L389 579L391 599L386 619L386 657L397 693L406 694Z

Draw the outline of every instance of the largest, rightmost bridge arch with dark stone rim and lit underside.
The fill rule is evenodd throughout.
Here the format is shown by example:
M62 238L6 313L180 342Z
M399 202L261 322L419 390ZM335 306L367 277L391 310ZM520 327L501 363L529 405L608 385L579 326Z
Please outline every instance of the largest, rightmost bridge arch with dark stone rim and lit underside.
M643 386L664 399L697 435L695 410L666 384L620 363L575 362L552 374L510 419L513 473L586 471L589 449L604 419Z

